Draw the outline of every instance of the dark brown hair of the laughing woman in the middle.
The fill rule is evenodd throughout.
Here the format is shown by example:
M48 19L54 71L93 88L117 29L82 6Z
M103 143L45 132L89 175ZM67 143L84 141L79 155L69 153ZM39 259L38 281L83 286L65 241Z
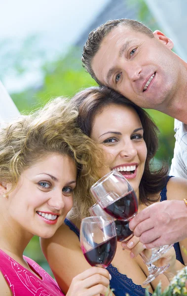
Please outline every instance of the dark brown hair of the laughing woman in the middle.
M144 140L148 150L145 170L139 186L140 202L146 204L148 201L157 201L156 199L150 199L148 196L158 193L164 187L167 180L168 167L162 166L158 170L155 170L154 166L153 169L151 168L151 160L158 148L157 133L159 130L150 115L121 94L106 86L84 89L74 96L71 103L79 111L77 117L79 127L89 137L91 135L94 117L105 106L110 104L123 105L131 107L137 112L144 129Z

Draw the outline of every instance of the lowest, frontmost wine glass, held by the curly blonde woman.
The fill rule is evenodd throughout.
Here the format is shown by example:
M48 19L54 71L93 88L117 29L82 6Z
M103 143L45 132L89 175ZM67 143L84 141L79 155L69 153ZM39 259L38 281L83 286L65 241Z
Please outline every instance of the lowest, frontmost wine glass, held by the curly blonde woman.
M81 221L80 246L91 266L106 268L112 261L117 236L112 217L88 217Z

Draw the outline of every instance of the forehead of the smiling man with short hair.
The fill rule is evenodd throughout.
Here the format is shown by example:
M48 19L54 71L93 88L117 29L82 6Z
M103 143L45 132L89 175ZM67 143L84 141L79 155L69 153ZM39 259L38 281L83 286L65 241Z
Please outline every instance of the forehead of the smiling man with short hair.
M115 67L119 59L120 50L124 46L127 50L132 46L150 40L145 33L119 25L103 39L100 48L92 59L92 69L97 78L105 85L109 85L106 75L111 67Z

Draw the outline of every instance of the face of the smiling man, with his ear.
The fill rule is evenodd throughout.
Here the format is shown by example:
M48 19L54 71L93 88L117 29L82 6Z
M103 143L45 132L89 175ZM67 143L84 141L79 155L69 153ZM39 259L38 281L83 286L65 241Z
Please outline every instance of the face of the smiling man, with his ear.
M150 38L121 25L103 39L91 66L104 85L140 107L164 111L179 85L179 59L172 48L159 31Z

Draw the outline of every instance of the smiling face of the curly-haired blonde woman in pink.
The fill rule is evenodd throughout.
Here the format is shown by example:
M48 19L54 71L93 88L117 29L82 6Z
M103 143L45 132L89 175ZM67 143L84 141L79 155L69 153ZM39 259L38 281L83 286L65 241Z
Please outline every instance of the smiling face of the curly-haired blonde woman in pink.
M48 154L25 170L16 188L7 194L6 220L14 229L51 237L73 206L76 174L69 156Z

